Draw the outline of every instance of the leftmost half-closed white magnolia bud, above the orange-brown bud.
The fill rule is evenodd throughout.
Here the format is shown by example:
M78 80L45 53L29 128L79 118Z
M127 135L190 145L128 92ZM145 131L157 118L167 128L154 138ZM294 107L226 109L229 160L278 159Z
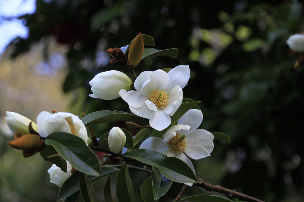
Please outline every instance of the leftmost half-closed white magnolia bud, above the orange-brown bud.
M32 120L16 112L6 112L6 116L5 121L13 133L29 134L29 123ZM38 131L36 123L32 122L32 127L36 132Z

